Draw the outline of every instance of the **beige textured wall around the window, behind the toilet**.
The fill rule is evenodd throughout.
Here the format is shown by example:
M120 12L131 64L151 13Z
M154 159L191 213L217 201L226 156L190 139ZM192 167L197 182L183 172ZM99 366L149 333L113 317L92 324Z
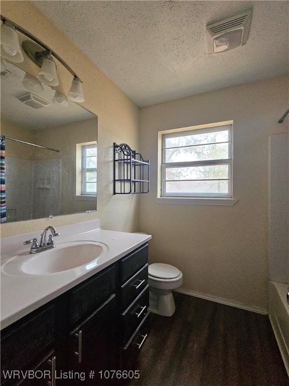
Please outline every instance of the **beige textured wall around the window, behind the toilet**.
M268 136L288 104L285 76L141 109L141 152L151 191L141 196L140 230L153 235L151 262L171 263L183 288L250 307L267 306ZM232 207L157 204L158 131L234 120Z

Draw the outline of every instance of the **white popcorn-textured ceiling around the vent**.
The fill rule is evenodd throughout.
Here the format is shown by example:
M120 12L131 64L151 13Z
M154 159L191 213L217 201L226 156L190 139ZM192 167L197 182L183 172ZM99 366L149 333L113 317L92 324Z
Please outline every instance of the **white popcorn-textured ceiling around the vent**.
M288 72L289 2L34 4L140 107ZM253 14L247 44L208 54L206 25L248 8Z

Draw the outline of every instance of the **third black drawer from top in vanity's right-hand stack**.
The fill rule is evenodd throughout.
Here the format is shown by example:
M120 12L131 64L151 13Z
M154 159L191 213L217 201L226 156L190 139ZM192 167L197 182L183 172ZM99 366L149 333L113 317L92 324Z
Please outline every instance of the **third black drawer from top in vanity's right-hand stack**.
M135 299L132 305L121 314L122 342L126 344L141 321L148 314L149 309L149 285Z

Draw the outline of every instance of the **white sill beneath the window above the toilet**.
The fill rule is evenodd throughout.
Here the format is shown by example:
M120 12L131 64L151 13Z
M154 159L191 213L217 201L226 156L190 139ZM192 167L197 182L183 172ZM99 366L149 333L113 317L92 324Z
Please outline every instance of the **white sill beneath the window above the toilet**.
M216 198L195 198L195 197L157 197L155 202L158 204L187 204L187 205L223 205L233 206L237 203L236 199L216 199Z

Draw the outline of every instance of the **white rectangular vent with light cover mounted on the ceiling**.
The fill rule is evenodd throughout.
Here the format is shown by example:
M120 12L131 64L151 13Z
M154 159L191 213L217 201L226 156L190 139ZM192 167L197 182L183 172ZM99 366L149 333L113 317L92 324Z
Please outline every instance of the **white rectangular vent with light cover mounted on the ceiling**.
M252 11L248 10L233 16L209 24L207 29L208 52L218 54L243 46L248 39Z

